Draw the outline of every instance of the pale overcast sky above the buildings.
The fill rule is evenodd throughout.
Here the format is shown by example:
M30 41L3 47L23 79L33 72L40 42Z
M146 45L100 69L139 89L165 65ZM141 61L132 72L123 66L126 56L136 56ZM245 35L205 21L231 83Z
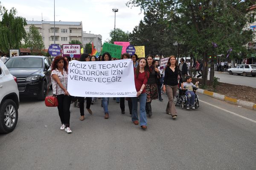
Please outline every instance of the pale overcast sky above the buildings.
M114 29L116 12L116 28L131 32L144 15L140 8L128 8L128 0L55 0L55 21L72 21L83 23L83 31L102 35L102 43L109 39L109 33ZM8 10L17 9L17 16L26 20L54 21L54 0L0 0L1 5Z

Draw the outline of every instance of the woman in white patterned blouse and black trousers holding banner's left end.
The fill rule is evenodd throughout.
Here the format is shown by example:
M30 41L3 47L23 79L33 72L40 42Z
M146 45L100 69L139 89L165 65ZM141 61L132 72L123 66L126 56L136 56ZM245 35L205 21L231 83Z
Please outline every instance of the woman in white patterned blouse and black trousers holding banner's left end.
M61 119L61 130L71 133L70 130L70 103L71 96L67 91L67 60L56 56L52 62L52 91L58 99L58 113Z

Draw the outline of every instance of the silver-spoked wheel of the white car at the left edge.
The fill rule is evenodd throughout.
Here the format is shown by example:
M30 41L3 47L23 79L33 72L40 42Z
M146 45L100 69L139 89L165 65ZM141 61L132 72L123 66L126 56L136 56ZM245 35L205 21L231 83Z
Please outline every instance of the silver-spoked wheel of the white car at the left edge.
M0 133L14 130L18 121L18 108L11 99L6 99L0 106Z

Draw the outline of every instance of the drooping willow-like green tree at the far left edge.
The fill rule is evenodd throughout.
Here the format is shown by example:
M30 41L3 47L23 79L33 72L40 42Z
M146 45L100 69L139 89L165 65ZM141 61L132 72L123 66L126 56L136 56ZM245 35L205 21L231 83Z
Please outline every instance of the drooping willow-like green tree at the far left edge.
M9 53L10 49L19 49L20 41L25 38L26 19L17 17L17 10L8 10L0 4L0 50Z

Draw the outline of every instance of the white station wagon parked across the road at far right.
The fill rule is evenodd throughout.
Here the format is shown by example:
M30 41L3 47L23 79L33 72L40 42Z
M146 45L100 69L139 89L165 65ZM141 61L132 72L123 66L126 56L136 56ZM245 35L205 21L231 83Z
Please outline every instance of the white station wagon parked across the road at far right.
M255 77L256 75L256 65L253 64L239 64L236 66L236 68L229 68L227 69L230 75L232 74L238 74L238 75L252 75L252 77Z

